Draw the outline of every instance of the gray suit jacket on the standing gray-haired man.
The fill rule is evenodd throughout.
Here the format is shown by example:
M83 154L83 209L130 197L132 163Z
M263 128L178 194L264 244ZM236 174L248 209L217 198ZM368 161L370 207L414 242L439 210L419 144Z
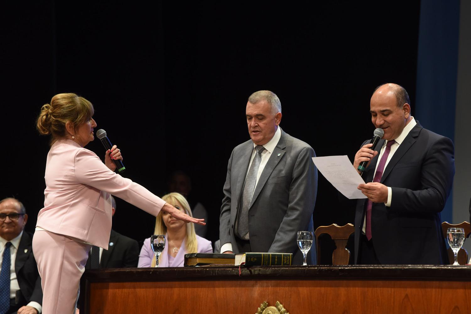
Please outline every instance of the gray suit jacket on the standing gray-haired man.
M252 151L252 140L236 146L227 165L219 238L221 244L231 242L234 253L239 253L234 225ZM281 130L281 138L257 182L249 209L252 252L293 253L293 264L302 264L296 233L306 230L314 233L317 169L311 157L315 156L311 146ZM311 265L316 264L314 243L308 253Z

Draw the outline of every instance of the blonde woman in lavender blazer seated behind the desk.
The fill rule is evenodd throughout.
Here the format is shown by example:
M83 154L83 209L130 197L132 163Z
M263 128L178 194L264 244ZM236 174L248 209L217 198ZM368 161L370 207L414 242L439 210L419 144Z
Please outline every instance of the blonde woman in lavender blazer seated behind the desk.
M170 193L162 200L193 217L187 200L180 193ZM161 267L182 267L185 254L212 253L211 241L195 233L193 223L186 224L161 211L155 218L154 234L165 234L165 249L159 258ZM139 254L138 267L154 267L155 256L150 247L150 237L144 240Z

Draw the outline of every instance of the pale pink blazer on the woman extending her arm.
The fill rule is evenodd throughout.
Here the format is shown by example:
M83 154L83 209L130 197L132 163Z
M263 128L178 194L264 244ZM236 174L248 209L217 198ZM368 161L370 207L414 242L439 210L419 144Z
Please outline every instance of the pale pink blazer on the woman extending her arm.
M63 139L49 150L44 208L36 226L108 249L113 194L157 216L165 201L108 169L98 156Z

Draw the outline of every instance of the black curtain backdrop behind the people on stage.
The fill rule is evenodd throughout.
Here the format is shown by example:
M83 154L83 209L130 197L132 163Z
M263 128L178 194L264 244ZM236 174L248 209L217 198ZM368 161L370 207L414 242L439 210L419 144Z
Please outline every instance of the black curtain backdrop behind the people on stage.
M209 212L212 241L228 158L249 139L244 114L252 92L274 91L281 127L317 156L350 160L373 133L369 99L377 85L396 82L415 98L419 1L7 6L0 197L24 202L28 231L43 206L49 150L35 119L57 93L94 104L97 129L122 150L124 177L162 196L171 172L186 171L191 198ZM103 159L99 141L87 148ZM317 195L315 226L352 222L353 208L340 204L322 175ZM118 200L113 225L142 241L154 218Z

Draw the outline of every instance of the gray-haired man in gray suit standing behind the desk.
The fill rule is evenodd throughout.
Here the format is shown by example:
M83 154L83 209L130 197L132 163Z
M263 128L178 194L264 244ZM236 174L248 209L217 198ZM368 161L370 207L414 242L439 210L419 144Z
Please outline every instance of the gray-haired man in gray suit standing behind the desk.
M317 169L311 157L316 154L279 127L281 103L273 92L253 93L245 115L251 139L234 148L227 165L221 253L293 253L292 264L302 264L296 233L314 233ZM316 264L315 244L308 264Z

